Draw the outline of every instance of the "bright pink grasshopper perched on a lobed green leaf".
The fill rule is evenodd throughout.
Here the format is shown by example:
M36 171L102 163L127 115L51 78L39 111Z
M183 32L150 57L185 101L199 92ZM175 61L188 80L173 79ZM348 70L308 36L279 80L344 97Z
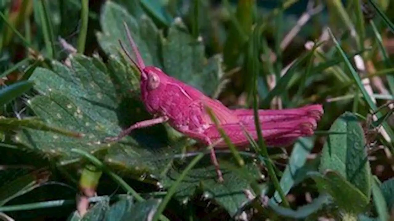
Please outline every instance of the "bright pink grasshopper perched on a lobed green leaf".
M118 141L134 129L168 122L177 131L200 140L206 145L218 142L215 147L227 147L223 140L219 141L221 135L204 105L208 105L213 110L221 128L235 145L242 146L249 143L244 133L245 130L257 140L253 110L229 109L220 101L205 96L196 88L168 76L159 68L145 66L126 23L123 22L123 24L137 62L131 58L130 53L119 41L121 48L141 72L141 98L147 111L155 118L135 123L118 136L106 138L107 141ZM259 110L262 135L266 144L270 146L292 144L300 136L314 134L314 129L322 114L322 105L285 110ZM218 180L222 182L223 176L213 148L210 157L216 168Z

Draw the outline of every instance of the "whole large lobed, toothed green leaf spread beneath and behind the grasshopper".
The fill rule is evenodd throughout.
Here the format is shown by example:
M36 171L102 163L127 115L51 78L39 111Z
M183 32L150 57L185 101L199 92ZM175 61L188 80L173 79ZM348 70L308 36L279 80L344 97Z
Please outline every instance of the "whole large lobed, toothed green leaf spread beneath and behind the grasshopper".
M55 159L56 156L59 164L75 162L80 159L77 154L71 152L71 149L74 148L97 155L106 153L103 156L104 162L117 172L129 177L151 173L164 188L168 188L177 179L187 162L175 160L171 163L174 155L180 153L185 144L182 142L173 143L171 131L167 127L156 125L139 129L117 144L102 143L104 138L119 134L122 128L152 118L146 112L139 97L136 97L139 95L139 73L131 68L130 62L126 61L123 56L118 56L120 47L116 39L121 38L123 41L126 39L123 26L120 25L122 19L128 22L133 37L137 33L136 43L142 44L140 50L143 58L147 61L146 64L152 64L153 57L156 57L156 61L160 61L160 57L154 55L156 53L154 51L158 48L147 46L156 41L154 39L157 36L153 36L153 40L148 38L152 35L149 33L156 33L152 28L154 24L146 20L146 26L151 29L146 28L141 31L143 25L128 15L125 9L113 2L106 2L101 17L103 33L101 36L99 35L100 45L109 57L106 65L96 57L74 55L70 58L71 67L54 61L53 71L37 68L30 77L36 83L35 89L41 94L29 102L35 114L39 118L45 119L45 122L50 125L76 131L84 136L76 139L27 130L26 134L19 134L18 137L23 144L32 149L43 152L52 159ZM141 18L139 21L143 19ZM139 37L138 32L145 37ZM218 80L221 74L219 60L217 57L213 57L207 61L201 43L198 56L191 57L194 46L190 45L189 43L193 42L186 41L187 39L190 37L186 33L179 32L176 24L173 24L169 36L162 41L166 42L164 47L167 54L172 56L169 58L171 63L182 63L183 59L186 59L181 64L183 65L181 70L184 70L184 74L189 77L184 79L187 82L195 82L200 88L205 88L204 92L210 94L209 91L213 92L216 89L216 86L212 85L216 85L215 79ZM187 53L182 55L169 53L179 50L181 52L184 50ZM167 64L169 63L167 62ZM192 66L192 64L196 66ZM166 68L165 65L164 68ZM174 74L181 76L179 70ZM209 78L210 75L212 79ZM193 79L190 76L203 77ZM206 84L207 82L212 85ZM206 156L205 161L199 162L182 182L175 195L176 198L182 200L189 198L197 188L202 188L211 193L211 197L222 204L230 214L234 214L239 206L247 200L243 190L249 189L249 181L244 178L245 172L234 172L232 159L227 162L225 159L219 159L219 162L224 173L225 182L223 184L217 184L214 166L210 162L209 156ZM247 168L256 179L258 177L257 168L253 162L249 162Z

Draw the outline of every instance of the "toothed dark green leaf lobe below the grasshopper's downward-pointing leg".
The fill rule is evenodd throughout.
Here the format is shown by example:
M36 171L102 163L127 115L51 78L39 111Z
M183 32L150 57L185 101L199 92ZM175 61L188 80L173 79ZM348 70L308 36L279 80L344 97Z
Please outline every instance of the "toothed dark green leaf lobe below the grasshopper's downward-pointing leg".
M221 157L221 155L217 154L217 157ZM169 169L162 185L170 186L177 180L183 168L189 164L189 160L187 158L183 162L180 160L175 161L175 165L181 165L178 168L172 166ZM245 168L247 169L247 173L250 173L250 175L245 175L245 170L234 168L235 159L232 156L228 157L228 155L223 156L222 160L219 158L219 164L223 173L223 183L217 183L215 167L212 165L209 155L206 155L182 180L177 192L174 194L175 198L180 201L188 199L190 195L193 195L199 189L205 193L204 195L207 198L214 199L218 204L223 206L230 215L235 215L238 208L248 201L244 190L251 189L249 184L251 179L258 178L258 169L251 160L246 161L245 159Z

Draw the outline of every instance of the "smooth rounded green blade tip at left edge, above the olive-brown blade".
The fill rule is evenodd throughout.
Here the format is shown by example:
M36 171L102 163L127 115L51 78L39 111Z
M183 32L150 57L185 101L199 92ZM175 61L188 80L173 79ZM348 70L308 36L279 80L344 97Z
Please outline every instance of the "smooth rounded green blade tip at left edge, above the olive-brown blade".
M33 87L31 81L19 81L0 90L0 106L6 105Z

